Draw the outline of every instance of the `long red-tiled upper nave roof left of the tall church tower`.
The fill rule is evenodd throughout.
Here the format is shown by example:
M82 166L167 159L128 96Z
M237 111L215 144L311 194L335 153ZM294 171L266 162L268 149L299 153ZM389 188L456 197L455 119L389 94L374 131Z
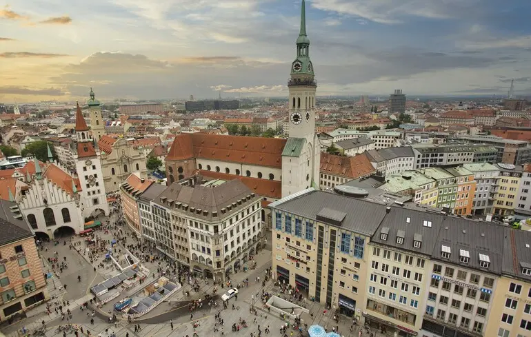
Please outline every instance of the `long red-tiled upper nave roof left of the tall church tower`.
M269 167L282 166L286 140L222 134L179 134L166 160L195 158Z

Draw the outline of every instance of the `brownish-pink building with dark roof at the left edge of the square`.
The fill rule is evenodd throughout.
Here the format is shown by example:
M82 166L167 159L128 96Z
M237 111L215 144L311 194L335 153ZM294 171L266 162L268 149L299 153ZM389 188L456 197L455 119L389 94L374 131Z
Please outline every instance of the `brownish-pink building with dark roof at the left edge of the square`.
M0 322L50 298L34 234L15 203L0 201Z

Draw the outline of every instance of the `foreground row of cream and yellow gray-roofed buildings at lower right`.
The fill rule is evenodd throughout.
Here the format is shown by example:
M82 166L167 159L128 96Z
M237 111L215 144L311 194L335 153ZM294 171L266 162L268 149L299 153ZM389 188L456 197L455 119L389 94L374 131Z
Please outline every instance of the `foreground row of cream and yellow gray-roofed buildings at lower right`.
M529 336L529 232L368 186L272 203L274 277L394 336Z

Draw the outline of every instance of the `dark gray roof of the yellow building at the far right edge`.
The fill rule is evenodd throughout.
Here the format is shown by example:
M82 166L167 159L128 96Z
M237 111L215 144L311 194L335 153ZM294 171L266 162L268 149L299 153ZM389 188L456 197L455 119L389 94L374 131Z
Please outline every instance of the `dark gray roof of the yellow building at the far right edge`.
M517 253L516 256L512 255L513 247ZM526 263L531 263L531 232L505 227L503 234L503 273L531 282L531 276L522 274L522 267Z

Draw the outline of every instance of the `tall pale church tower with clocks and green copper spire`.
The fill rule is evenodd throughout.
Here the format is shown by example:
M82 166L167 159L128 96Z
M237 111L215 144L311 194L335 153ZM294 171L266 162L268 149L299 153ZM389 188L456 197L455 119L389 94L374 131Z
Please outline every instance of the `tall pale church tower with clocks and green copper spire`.
M297 57L291 64L289 138L282 153L282 196L319 186L321 147L315 133L314 68L310 61L310 39L306 35L305 1L301 6L301 30Z

